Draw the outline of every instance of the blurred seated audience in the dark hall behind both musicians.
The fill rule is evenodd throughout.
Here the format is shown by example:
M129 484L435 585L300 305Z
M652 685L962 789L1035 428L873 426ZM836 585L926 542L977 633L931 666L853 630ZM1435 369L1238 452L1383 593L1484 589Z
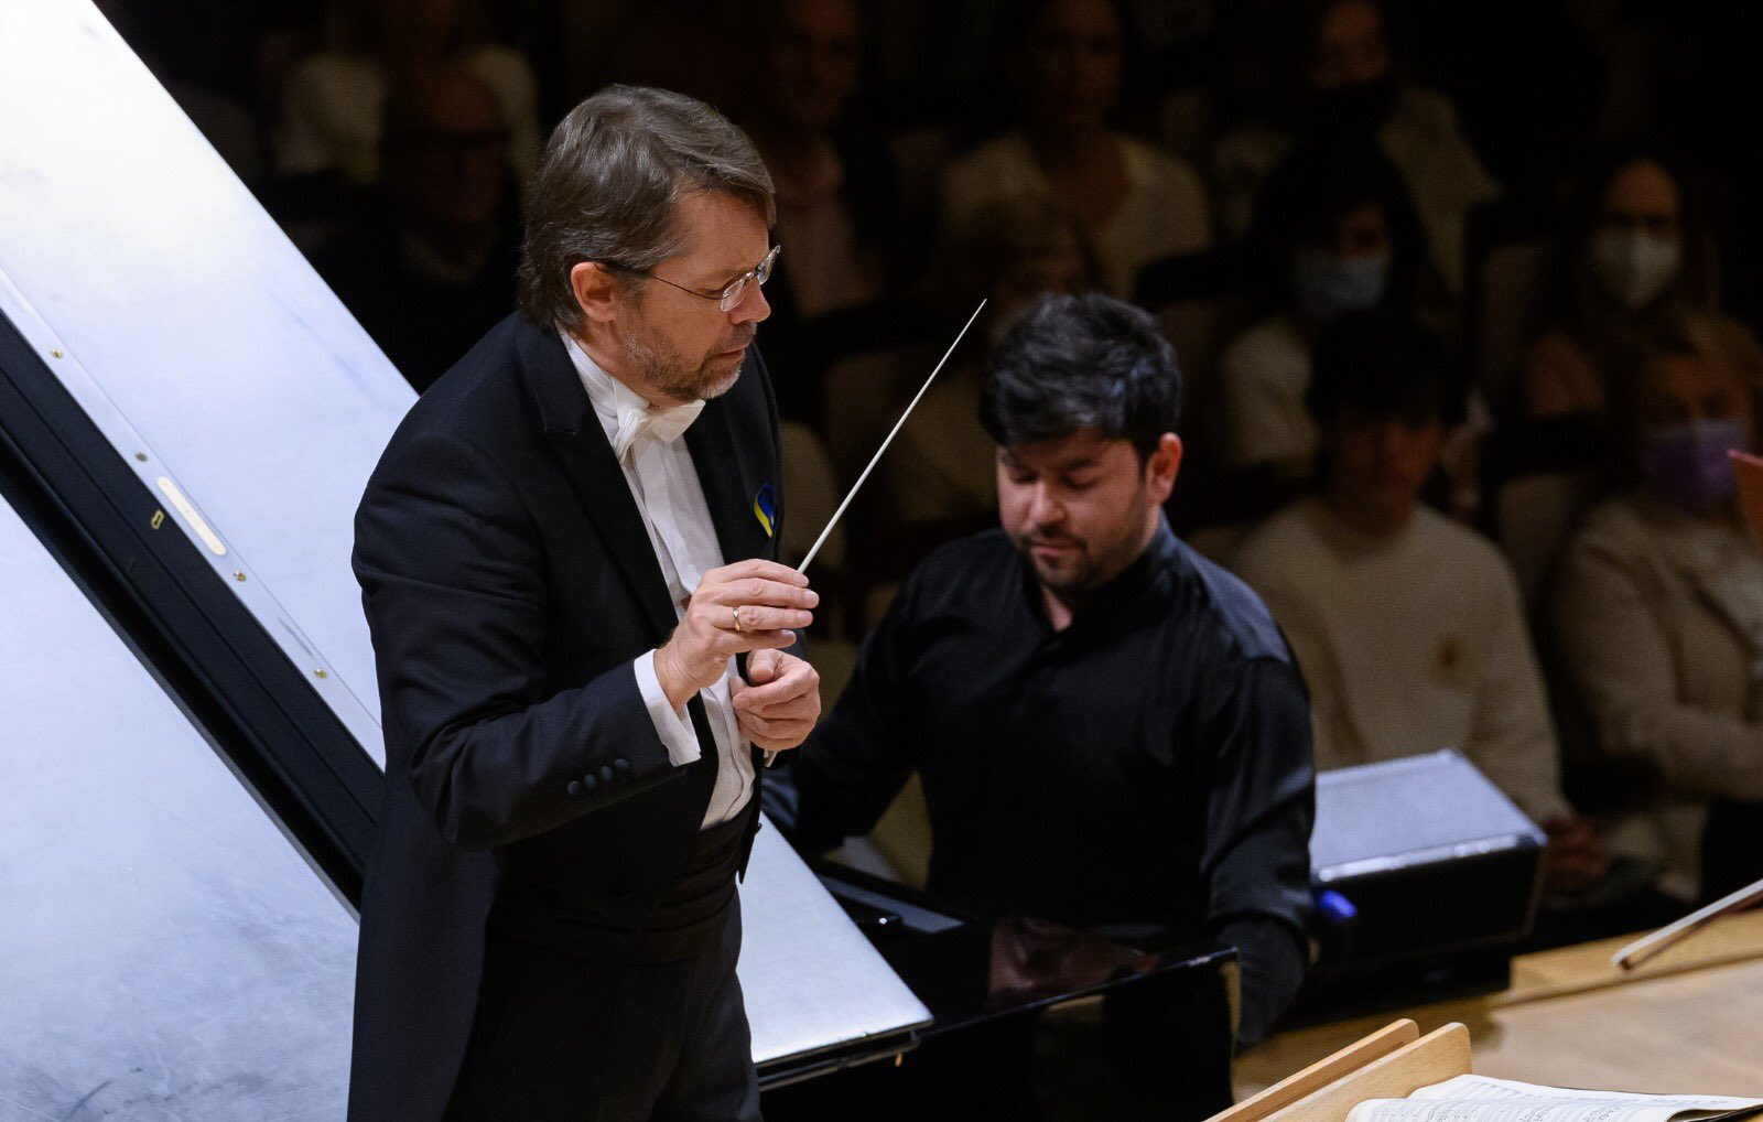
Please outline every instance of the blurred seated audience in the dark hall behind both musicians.
M612 78L728 111L774 176L762 344L804 510L843 494L984 296L846 519L844 563L827 556L823 653L931 545L998 517L980 386L1023 309L1128 293L1160 263L1141 291L1171 305L1204 432L1178 505L1291 635L1319 762L1463 750L1550 831L1557 912L1617 901L1640 926L1763 875L1763 557L1724 460L1758 443L1763 385L1738 319L1759 310L1763 222L1735 205L1756 180L1722 129L1763 106L1737 9L97 2L418 390L513 307L539 136ZM1671 136L1698 173L1564 122ZM1525 254L1555 242L1537 300L1530 256L1523 284L1458 300L1465 217L1499 191L1467 129L1511 189L1486 229L1516 215ZM1141 136L1204 166L1211 198ZM1530 206L1585 150L1573 205ZM1483 362L1504 427L1479 445L1477 390L1419 326L1470 316L1500 340ZM1467 512L1477 453L1548 623L1553 722L1513 565L1425 505Z

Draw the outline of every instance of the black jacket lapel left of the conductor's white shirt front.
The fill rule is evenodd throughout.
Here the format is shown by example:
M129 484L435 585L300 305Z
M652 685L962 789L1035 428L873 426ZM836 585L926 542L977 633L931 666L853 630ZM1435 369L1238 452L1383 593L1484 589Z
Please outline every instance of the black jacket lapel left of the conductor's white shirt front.
M661 642L679 623L679 612L668 598L666 577L661 575L661 563L624 469L589 408L587 390L562 340L524 319L520 332L520 362L538 399L545 438L557 452L582 510L592 519L606 552L654 626L656 642Z

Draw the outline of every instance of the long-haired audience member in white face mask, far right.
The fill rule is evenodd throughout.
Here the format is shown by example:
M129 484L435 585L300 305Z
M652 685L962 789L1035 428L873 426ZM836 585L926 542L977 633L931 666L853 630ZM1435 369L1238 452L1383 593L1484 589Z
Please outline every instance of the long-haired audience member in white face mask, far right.
M1543 284L1514 413L1603 413L1611 367L1650 332L1692 330L1728 349L1756 349L1717 310L1712 238L1689 194L1652 148L1615 152L1587 176Z

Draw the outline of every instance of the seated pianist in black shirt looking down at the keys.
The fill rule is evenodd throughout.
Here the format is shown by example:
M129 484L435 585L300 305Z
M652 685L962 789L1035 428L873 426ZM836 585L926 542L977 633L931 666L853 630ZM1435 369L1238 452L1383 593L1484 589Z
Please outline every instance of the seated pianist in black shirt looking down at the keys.
M1310 709L1255 595L1162 517L1179 395L1151 318L1107 296L1003 339L980 399L1003 527L906 579L774 810L825 849L917 771L933 893L1236 946L1253 1041L1306 961Z

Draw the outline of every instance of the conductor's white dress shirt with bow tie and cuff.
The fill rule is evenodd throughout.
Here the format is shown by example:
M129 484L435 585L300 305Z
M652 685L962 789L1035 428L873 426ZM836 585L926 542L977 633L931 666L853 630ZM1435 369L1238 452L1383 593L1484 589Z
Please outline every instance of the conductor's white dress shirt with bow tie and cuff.
M652 409L640 393L601 370L575 339L564 335L562 342L587 390L587 400L594 406L594 416L599 418L599 427L605 429L612 452L619 457L624 482L631 485L631 497L636 499L643 529L649 531L649 545L661 563L673 610L684 616L686 600L703 573L723 565L723 549L716 542L716 524L710 522L703 485L698 483L698 473L691 464L691 450L681 439L698 418L703 402ZM649 716L668 757L677 767L691 764L700 757L698 734L693 732L686 709L670 706L666 693L661 692L656 653L638 656L633 669L636 688L649 706ZM718 752L716 789L703 813L705 829L728 822L753 797L753 755L746 737L740 736L728 693L733 676L735 660L730 658L723 679L700 692Z

